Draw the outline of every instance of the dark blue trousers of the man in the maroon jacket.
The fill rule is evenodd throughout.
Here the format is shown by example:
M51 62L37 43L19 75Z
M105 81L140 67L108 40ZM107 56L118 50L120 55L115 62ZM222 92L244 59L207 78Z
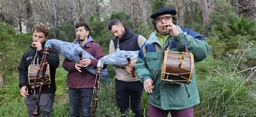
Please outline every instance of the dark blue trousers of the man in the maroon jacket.
M91 116L90 104L92 99L93 88L70 88L69 87L69 103L70 103L70 115L79 116L80 112L82 116Z

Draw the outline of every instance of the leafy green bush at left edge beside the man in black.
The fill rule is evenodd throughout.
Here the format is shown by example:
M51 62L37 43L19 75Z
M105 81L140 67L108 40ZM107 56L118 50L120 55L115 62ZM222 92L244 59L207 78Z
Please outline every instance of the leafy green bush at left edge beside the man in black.
M14 27L0 23L0 75L9 76L14 71L17 71L17 66L26 49L31 44L31 35L15 34ZM8 82L6 82L8 83Z

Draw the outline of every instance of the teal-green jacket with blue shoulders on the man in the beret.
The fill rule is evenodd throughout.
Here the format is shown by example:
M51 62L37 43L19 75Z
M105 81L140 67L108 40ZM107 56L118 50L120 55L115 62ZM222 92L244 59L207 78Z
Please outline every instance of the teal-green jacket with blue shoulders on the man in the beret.
M136 74L140 81L144 83L148 78L154 81L153 92L149 94L149 103L164 110L186 109L200 103L196 70L194 70L192 82L189 85L160 82L164 50L171 47L170 50L172 51L185 52L183 41L185 36L188 52L193 53L195 62L204 60L210 52L210 46L203 39L194 38L198 37L199 34L187 29L184 30L186 32L183 32L180 27L178 27L178 30L179 35L175 38L171 36L167 38L163 49L160 46L156 32L153 32L140 49L136 62ZM203 38L203 36L200 37Z

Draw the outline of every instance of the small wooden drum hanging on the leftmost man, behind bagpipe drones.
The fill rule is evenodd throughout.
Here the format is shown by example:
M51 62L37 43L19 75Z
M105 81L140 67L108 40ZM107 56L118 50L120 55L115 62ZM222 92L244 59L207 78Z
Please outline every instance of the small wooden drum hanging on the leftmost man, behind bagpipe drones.
M37 70L39 69L40 65L39 64L35 64L35 65L32 65L30 64L29 65L29 73L28 73L28 77L29 77L29 85L32 86L33 83L35 82L35 79L36 79L36 74L37 74ZM46 67L46 71L45 71L45 77L44 77L44 84L51 84L51 78L50 78L50 69L49 69L49 64L47 64L47 67ZM37 81L36 81L36 87L40 85L40 80L39 78L37 78Z

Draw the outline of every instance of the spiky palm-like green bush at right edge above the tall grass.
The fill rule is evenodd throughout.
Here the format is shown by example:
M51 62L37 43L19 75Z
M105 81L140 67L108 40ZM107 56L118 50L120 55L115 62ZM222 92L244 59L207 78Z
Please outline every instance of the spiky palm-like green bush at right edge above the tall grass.
M228 60L234 72L254 67L256 20L246 20L244 16L229 17L223 25L213 26L214 36L208 43L216 58Z

